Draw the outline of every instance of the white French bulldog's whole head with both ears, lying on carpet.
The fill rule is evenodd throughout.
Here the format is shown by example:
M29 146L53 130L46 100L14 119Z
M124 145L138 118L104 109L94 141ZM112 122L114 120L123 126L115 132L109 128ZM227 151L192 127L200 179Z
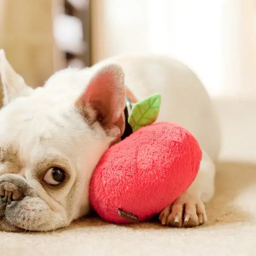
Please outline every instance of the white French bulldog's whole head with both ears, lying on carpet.
M122 68L90 70L33 90L0 51L0 230L53 230L89 212L91 174L122 135L125 107Z

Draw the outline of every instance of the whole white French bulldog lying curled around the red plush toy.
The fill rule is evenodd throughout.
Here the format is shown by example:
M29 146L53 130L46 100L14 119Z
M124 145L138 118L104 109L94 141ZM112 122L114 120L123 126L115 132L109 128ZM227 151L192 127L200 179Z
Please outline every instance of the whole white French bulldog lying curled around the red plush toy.
M33 90L1 50L0 71L0 230L49 231L89 213L91 174L124 132L125 86L138 100L160 93L158 121L183 125L203 149L195 181L163 209L161 223L207 220L220 132L206 90L184 64L160 56L112 58L59 71Z

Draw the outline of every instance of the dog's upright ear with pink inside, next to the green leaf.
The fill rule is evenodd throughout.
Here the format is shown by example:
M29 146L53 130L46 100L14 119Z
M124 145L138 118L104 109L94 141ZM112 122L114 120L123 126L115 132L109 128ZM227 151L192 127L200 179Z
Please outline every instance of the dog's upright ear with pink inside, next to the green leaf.
M119 64L101 67L90 80L75 106L89 123L98 121L110 137L124 132L124 72Z

